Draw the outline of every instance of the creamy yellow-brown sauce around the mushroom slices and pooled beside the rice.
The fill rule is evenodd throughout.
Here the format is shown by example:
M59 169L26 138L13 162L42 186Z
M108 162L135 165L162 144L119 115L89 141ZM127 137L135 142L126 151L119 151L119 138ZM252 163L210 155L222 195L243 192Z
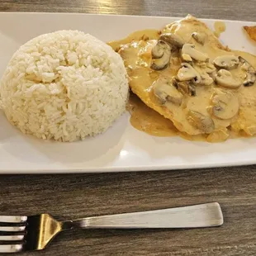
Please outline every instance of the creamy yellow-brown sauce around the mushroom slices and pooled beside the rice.
M196 25L195 31L197 31L199 27L197 23ZM225 31L225 24L220 21L216 23L215 27L216 31ZM165 32L171 31L180 36L182 35L185 40L187 37L187 42L191 42L192 39L189 37L191 32L194 32L191 31L191 27L187 28L179 22L176 22L172 26L166 26L164 30ZM220 55L240 55L256 68L256 57L254 55L249 55L240 51L231 52L230 50L226 50L225 47L220 45L218 40L212 36L212 32L209 29L203 27L202 31L206 32L206 35L208 36L207 43L205 45L197 44L194 41L192 41L192 43L196 45L198 50L207 53L211 61ZM249 97L255 97L256 99L255 84L248 88L242 86L238 90L232 90L232 92L239 97L241 105L240 111L242 111L242 114L239 115L239 118L236 116L231 120L220 120L213 117L216 130L210 135L201 134L200 131L187 122L186 116L184 116L184 108L200 111L204 115L209 115L207 107L210 104L209 101L214 91L212 86L197 87L197 96L185 97L181 107L173 104L163 107L159 104L159 100L152 92L154 82L159 76L163 75L168 78L173 78L173 76L177 74L182 62L178 56L177 58L174 56L169 64L169 67L171 68L163 69L161 71L149 69L152 60L151 50L153 45L155 45L156 41L159 39L159 34L160 33L157 30L135 31L126 39L116 40L109 43L114 50L119 51L121 57L124 59L126 70L130 78L130 88L143 100L143 102L141 102L138 97L131 93L128 107L131 115L130 124L134 126L135 129L144 131L150 135L180 135L186 140L206 140L209 142L220 142L227 138L236 138L244 135L248 136L250 131L252 131L251 135L256 134L256 100L254 100L254 98L249 99ZM244 73L241 69L230 70L230 72L236 78L244 78ZM252 106L248 107L249 104ZM168 118L164 118L164 116ZM247 116L249 116L249 118L247 118ZM230 124L232 130L230 130ZM249 132L248 129L250 129ZM186 132L184 132L184 130ZM190 135L188 135L188 133Z

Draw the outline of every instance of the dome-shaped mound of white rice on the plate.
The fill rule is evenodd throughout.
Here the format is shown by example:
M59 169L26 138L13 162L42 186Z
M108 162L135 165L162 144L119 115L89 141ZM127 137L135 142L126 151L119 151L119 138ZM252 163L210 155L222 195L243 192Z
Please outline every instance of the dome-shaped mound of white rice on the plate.
M45 140L97 135L126 110L121 56L80 31L38 36L12 56L0 82L7 119Z

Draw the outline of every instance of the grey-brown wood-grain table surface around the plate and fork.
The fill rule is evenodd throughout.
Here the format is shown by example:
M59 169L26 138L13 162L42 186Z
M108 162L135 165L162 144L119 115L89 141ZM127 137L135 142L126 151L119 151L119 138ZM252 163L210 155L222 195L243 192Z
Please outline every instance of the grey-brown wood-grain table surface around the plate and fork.
M255 0L1 0L4 12L90 12L256 21ZM62 219L218 201L225 224L201 230L81 230L23 255L255 255L256 166L0 177L0 214Z

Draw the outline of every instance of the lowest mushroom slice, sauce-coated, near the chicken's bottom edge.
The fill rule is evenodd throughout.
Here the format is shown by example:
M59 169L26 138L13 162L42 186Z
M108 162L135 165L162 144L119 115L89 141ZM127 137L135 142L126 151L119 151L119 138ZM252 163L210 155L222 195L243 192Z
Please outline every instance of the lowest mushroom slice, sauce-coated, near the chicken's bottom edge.
M204 116L197 111L188 111L187 121L195 128L201 130L203 133L209 134L215 130L214 121L210 116Z

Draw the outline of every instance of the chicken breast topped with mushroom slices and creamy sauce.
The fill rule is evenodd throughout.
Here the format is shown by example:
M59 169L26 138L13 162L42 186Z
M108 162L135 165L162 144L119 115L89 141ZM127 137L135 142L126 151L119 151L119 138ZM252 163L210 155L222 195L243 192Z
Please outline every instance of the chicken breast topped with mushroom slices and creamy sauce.
M229 50L190 15L135 35L118 49L132 92L148 107L183 133L210 141L228 138L230 127L256 134L254 55Z

